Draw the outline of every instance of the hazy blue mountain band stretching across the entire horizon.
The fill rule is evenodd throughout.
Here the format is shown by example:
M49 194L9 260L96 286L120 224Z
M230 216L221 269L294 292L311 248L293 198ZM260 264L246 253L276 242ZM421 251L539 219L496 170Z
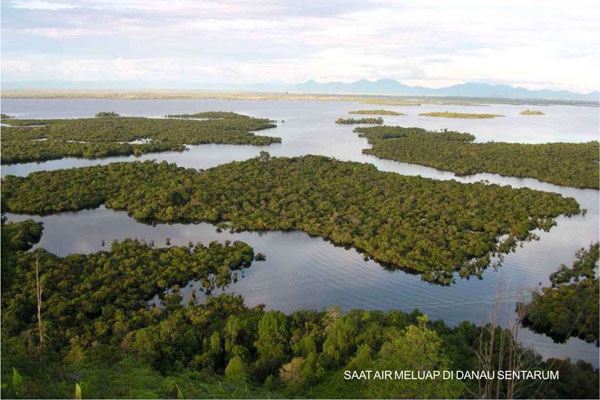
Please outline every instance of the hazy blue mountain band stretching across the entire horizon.
M185 82L144 82L144 81L22 81L2 82L4 90L238 90L257 92L302 92L319 94L382 94L405 96L443 96L443 97L485 97L532 100L600 100L600 92L575 93L566 90L529 90L508 85L489 83L462 83L443 88L404 85L393 79L370 81L361 79L356 82L317 82L309 80L300 84L257 83L249 85L202 84Z

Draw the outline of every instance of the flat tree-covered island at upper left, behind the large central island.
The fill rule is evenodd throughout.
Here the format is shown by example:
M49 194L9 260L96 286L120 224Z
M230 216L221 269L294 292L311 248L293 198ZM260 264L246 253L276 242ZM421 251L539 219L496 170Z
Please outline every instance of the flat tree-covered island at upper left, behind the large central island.
M102 112L96 118L11 119L11 126L2 129L2 163L183 151L186 144L263 146L281 142L277 137L252 133L275 126L267 119L235 113L203 114L213 116L196 121Z

